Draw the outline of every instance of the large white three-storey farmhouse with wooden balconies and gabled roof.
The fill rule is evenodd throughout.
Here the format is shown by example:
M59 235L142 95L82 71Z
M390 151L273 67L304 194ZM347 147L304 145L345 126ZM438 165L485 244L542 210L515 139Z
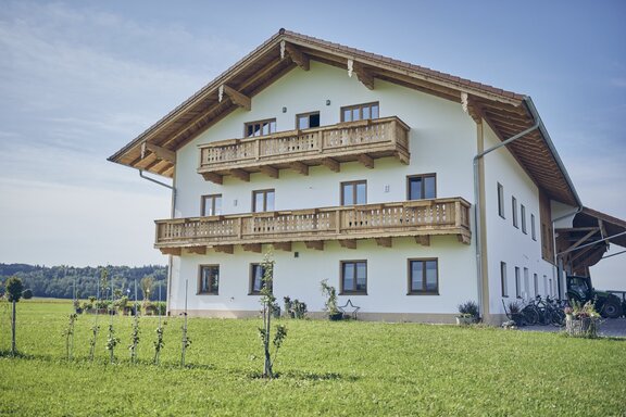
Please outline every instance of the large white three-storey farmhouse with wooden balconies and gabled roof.
M362 319L497 323L564 294L583 208L529 97L284 29L110 160L173 179L172 314L256 315L272 250L310 312L328 279Z

